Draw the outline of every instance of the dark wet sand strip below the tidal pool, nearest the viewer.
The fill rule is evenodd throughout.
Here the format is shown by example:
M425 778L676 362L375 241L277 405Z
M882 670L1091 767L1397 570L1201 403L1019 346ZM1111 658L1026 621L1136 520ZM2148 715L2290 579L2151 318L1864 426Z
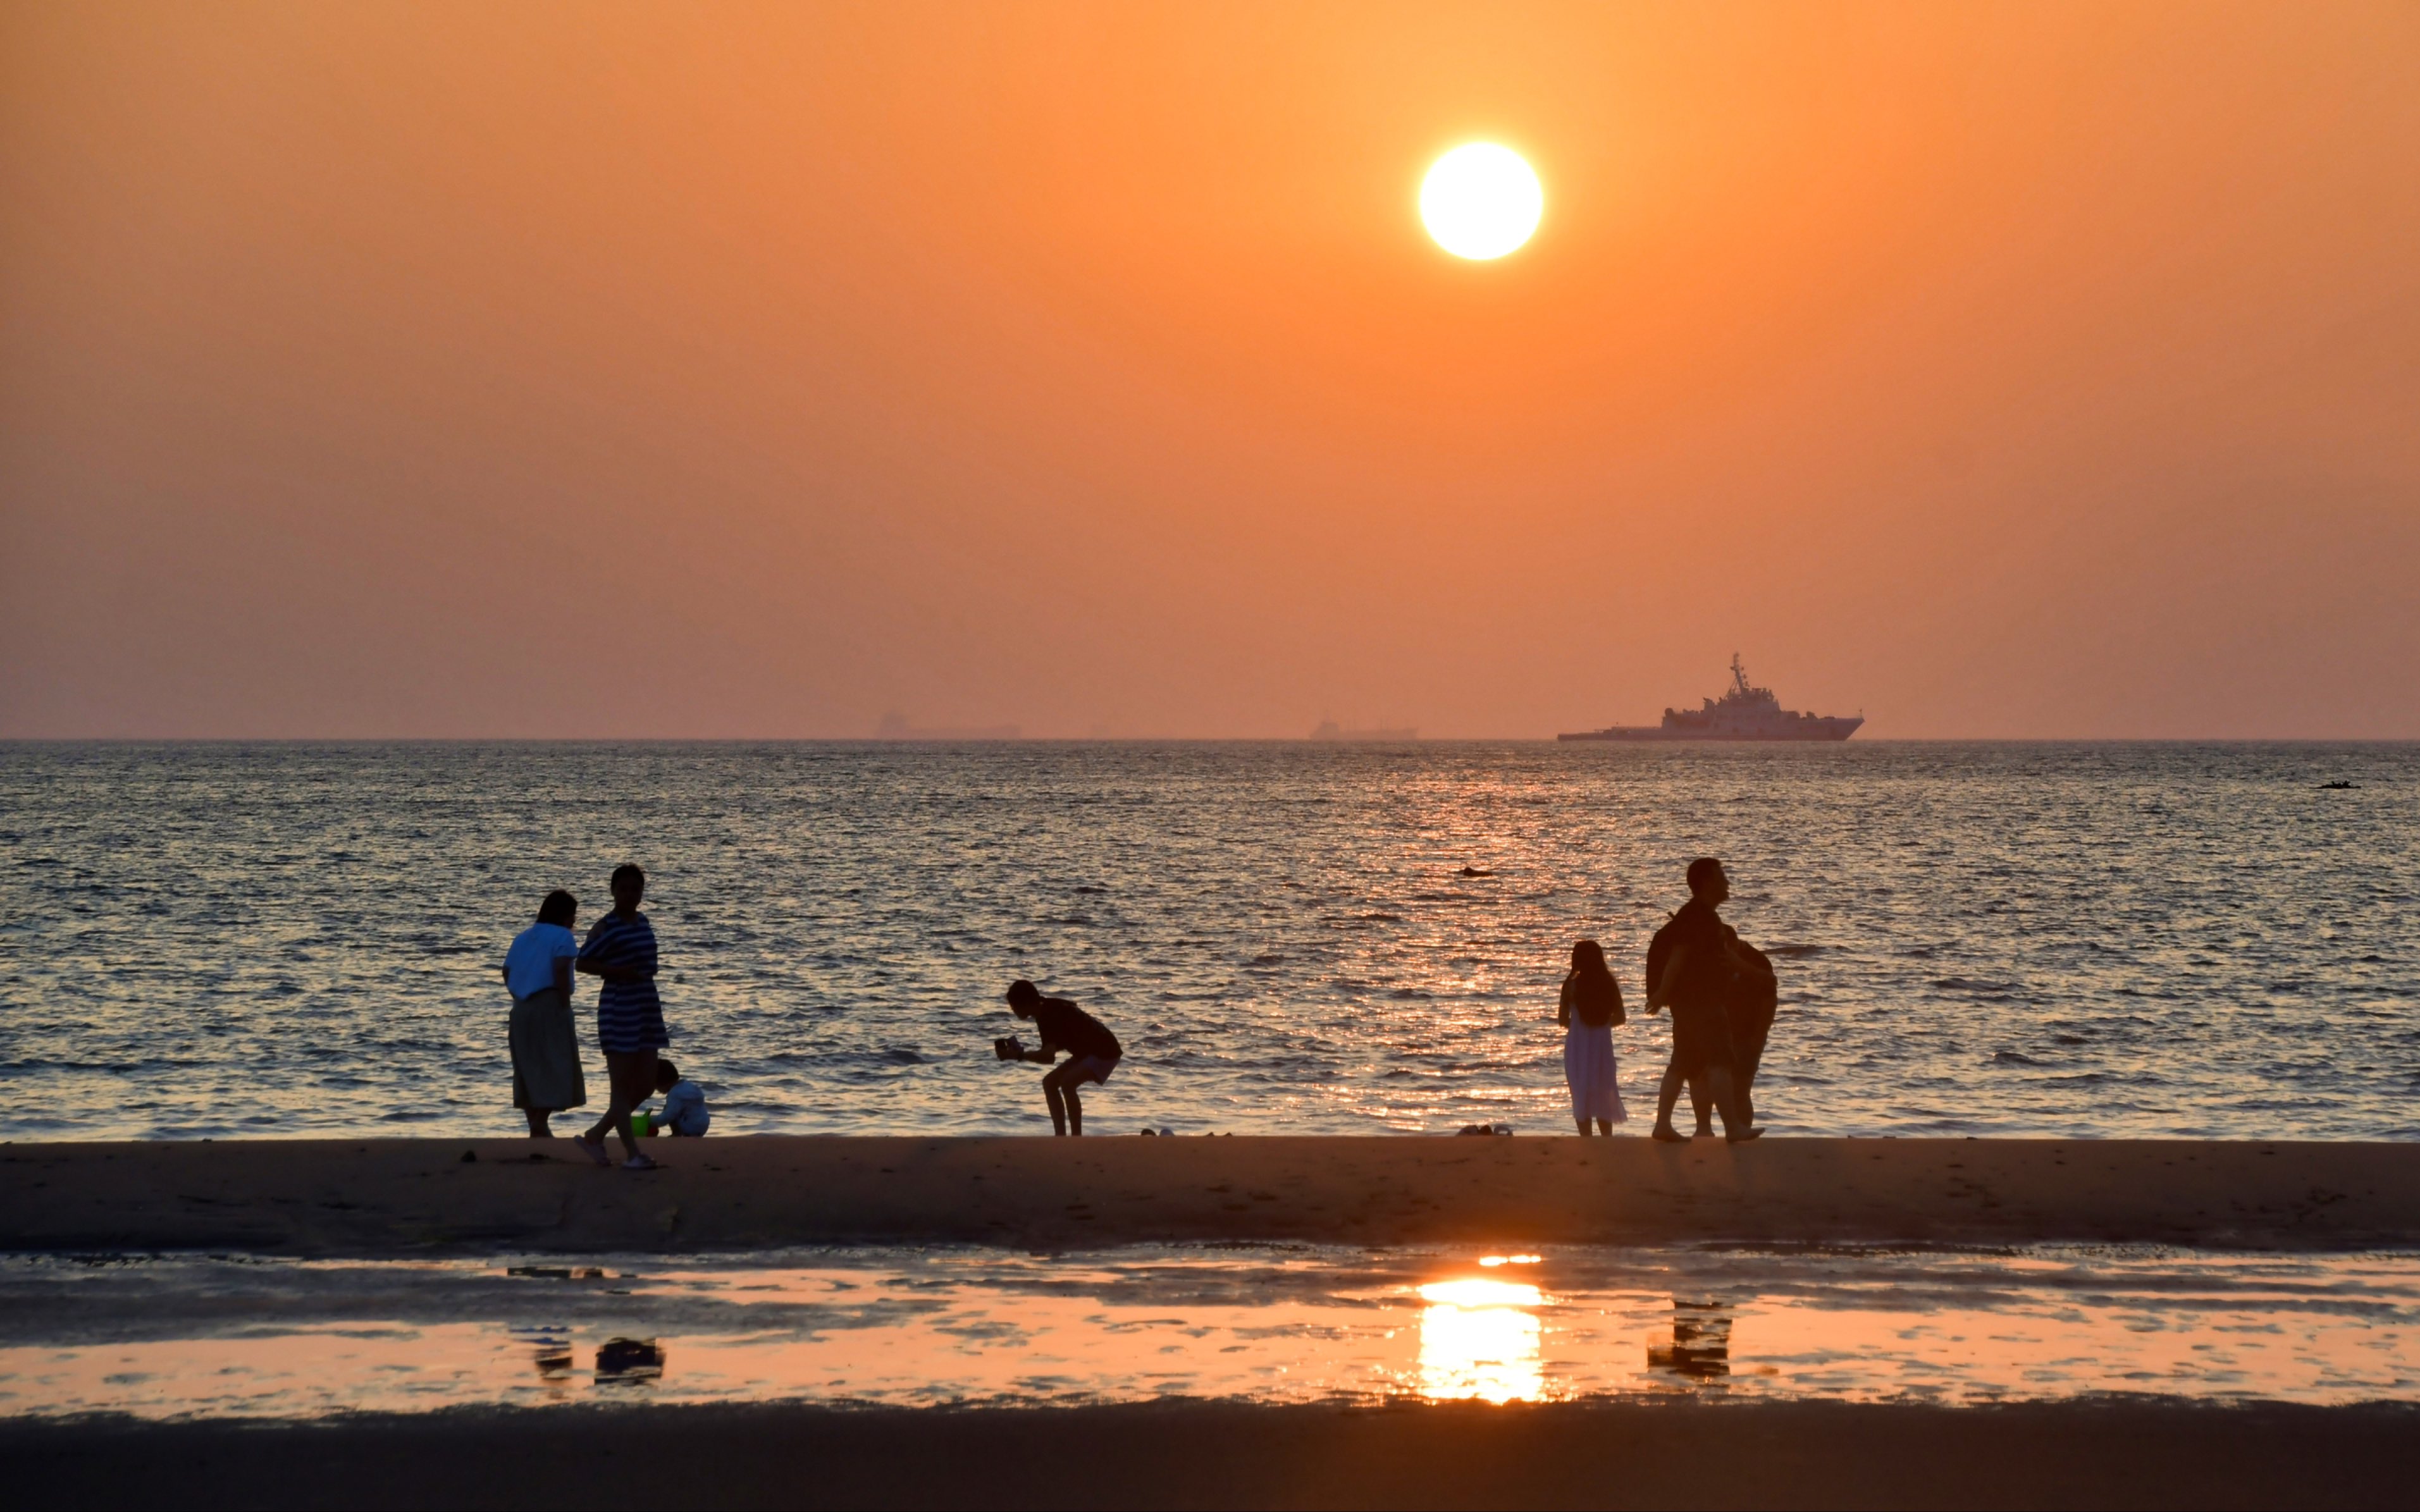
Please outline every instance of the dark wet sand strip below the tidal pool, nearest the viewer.
M0 1422L19 1507L2408 1507L2420 1410L1150 1403Z

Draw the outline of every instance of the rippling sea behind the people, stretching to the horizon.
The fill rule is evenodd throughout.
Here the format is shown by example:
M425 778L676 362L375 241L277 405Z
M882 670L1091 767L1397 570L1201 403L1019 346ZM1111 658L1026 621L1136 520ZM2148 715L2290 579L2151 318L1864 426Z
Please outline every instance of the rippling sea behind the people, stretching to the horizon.
M2415 1137L2415 745L0 745L0 1077L15 1137L511 1132L503 946L634 859L719 1132L1048 1127L990 1052L1026 975L1125 1040L1096 1132L1544 1135L1571 941L1636 997L1718 854L1781 968L1776 1132ZM1634 1115L1665 1045L1617 1031Z

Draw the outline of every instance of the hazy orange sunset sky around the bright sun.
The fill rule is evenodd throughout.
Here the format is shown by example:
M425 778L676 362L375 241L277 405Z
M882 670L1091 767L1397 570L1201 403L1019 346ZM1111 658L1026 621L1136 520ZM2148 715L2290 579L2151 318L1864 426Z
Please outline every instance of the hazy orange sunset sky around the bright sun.
M2408 2L12 2L0 735L1549 735L1742 651L2415 738L2415 77Z

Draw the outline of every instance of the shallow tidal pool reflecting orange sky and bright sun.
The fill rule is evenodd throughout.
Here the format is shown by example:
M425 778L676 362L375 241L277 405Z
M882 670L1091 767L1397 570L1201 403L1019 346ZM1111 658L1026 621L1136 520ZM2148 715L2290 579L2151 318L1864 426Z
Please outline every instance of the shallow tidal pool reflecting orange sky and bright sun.
M0 1260L5 1415L1638 1393L2420 1401L2420 1265L1302 1246Z

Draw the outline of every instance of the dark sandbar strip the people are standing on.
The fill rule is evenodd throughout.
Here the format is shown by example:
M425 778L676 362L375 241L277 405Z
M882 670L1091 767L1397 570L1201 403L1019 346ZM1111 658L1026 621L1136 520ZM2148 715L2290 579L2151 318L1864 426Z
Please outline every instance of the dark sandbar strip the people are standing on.
M0 1144L0 1248L2420 1243L2420 1144L1392 1137Z

